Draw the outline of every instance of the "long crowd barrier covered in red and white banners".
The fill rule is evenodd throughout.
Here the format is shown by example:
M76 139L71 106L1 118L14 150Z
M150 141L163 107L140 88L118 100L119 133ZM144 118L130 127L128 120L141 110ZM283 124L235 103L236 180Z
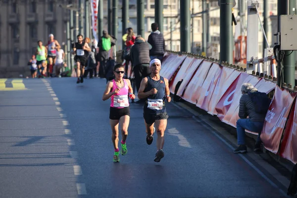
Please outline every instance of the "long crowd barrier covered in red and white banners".
M194 54L169 51L164 54L160 75L169 80L171 93L211 115L217 115L222 122L233 127L239 119L243 83L251 83L266 94L275 92L260 137L266 149L296 164L296 94L278 87L274 81L249 75L243 70L234 65L222 66Z

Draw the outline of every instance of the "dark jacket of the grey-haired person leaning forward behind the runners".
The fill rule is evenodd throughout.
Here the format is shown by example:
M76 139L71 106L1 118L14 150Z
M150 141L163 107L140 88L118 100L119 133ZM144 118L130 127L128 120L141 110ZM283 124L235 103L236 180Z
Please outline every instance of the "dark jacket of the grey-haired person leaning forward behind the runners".
M137 40L130 51L131 62L133 66L140 64L149 64L149 47L148 44L142 40Z

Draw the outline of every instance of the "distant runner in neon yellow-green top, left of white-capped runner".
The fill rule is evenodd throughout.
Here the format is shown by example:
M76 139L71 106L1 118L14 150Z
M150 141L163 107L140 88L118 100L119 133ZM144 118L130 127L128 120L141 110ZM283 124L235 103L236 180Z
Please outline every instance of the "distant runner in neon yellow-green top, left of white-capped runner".
M39 74L43 78L46 77L46 71L47 71L47 53L48 50L45 46L42 45L42 41L38 41L38 46L36 48L36 64L39 69Z

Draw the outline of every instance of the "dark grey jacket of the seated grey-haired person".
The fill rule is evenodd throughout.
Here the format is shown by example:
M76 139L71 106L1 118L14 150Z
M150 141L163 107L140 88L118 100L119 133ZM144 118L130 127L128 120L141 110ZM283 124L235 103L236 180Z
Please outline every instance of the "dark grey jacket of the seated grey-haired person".
M249 92L256 92L257 89L253 88ZM259 114L255 111L255 107L248 94L244 94L239 101L239 117L241 119L248 118L254 122L264 122L266 114Z

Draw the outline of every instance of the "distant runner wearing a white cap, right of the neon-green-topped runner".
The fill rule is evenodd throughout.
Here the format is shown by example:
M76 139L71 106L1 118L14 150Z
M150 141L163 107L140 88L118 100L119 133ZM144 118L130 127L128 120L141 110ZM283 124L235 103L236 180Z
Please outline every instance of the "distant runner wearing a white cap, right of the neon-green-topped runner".
M48 49L48 60L49 60L49 76L52 77L53 65L56 60L56 51L58 48L61 48L60 44L54 40L53 34L49 35L48 45L46 45Z

